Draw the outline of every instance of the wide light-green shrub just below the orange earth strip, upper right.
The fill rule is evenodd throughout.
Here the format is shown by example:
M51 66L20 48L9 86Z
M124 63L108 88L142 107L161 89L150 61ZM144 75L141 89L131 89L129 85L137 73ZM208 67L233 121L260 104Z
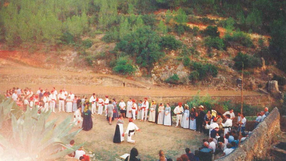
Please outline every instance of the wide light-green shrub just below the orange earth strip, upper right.
M250 36L247 33L244 33L242 31L234 31L232 32L232 35L229 33L226 33L224 36L224 39L226 42L236 42L245 47L253 46L253 42Z

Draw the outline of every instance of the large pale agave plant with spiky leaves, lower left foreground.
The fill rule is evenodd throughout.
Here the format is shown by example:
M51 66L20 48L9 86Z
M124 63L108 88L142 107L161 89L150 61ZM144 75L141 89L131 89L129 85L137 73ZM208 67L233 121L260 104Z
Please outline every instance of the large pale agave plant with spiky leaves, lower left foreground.
M71 117L65 118L56 124L56 119L46 122L51 110L38 113L33 107L27 109L19 118L12 114L12 130L9 137L0 135L0 146L3 146L2 160L52 160L63 157L79 149L84 143L67 147L70 140L82 129L69 133L73 123ZM60 150L65 147L65 150Z

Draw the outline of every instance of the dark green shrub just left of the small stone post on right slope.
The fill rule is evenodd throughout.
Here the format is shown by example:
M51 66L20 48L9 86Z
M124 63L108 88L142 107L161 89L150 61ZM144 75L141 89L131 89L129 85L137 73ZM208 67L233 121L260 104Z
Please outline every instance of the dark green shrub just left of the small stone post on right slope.
M235 64L234 64L235 68L239 70L242 69L242 64L245 69L261 66L260 58L254 57L249 54L243 54L241 52L239 52L237 56L233 58L233 60L235 61Z

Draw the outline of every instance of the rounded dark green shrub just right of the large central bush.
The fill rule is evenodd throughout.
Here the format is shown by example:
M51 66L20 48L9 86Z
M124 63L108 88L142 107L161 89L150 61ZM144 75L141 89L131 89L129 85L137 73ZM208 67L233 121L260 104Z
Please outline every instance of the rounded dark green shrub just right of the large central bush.
M166 35L161 37L160 45L163 48L169 48L171 50L176 50L182 46L182 42L176 40L175 36L173 35Z

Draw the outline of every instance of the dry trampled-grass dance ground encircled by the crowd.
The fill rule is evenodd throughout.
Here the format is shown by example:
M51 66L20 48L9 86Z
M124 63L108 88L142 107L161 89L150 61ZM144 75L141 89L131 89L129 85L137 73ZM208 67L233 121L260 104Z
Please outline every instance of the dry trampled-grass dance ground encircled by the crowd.
M56 112L58 109L56 109ZM52 113L51 119L58 119L58 122L65 119L72 113L57 112ZM136 144L127 142L125 136L124 142L121 144L113 143L113 136L116 127L116 121L109 125L104 115L93 115L93 128L90 131L81 131L75 138L76 144L86 142L84 149L94 152L94 160L115 160L119 156L130 153L130 150L135 147L139 151L141 160L157 160L160 149L164 150L165 156L173 160L184 154L185 148L190 148L192 152L198 149L203 134L189 129L183 129L180 126L174 127L174 122L171 127L135 120L134 123L141 129L132 137L136 140ZM124 130L128 125L128 119L124 119ZM73 130L78 129L75 127Z

